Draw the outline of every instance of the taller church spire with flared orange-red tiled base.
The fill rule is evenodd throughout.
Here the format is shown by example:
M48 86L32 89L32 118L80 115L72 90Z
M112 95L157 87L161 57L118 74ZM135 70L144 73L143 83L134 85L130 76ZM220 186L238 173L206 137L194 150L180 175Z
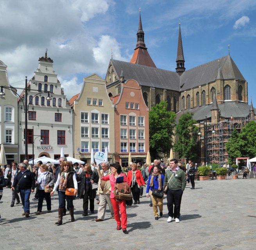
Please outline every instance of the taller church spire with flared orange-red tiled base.
M144 31L142 29L141 15L139 19L139 28L137 31L137 44L130 62L156 68L156 65L150 57L144 42Z

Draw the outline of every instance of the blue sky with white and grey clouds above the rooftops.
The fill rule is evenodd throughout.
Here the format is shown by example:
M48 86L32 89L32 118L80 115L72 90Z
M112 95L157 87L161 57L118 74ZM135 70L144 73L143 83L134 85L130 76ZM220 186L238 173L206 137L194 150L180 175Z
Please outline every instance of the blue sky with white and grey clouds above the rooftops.
M140 8L157 68L175 71L180 21L186 70L230 53L256 107L255 0L0 1L0 61L11 86L25 86L46 48L68 99L84 77L105 79L111 56L131 60Z

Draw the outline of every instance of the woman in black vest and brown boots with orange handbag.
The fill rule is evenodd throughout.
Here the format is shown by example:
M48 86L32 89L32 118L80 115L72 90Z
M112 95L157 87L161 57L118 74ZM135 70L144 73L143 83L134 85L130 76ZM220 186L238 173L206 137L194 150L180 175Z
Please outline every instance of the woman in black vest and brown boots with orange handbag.
M75 221L74 218L74 205L73 205L73 196L77 194L77 179L74 174L73 167L68 161L63 161L61 163L61 170L59 171L58 179L55 182L54 189L51 192L51 196L54 195L54 192L59 187L59 220L55 222L57 225L62 224L62 217L63 217L63 208L64 208L64 201L66 199L69 213L71 216L71 221ZM66 195L66 189L74 188L75 193L73 195Z

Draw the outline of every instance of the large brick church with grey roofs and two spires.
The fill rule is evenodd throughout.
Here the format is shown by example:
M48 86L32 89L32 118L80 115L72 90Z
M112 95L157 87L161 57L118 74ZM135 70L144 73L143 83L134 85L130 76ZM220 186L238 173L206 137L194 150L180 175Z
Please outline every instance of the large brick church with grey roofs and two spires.
M131 61L109 62L105 78L109 96L119 95L125 80L136 80L149 110L164 100L177 120L184 112L193 112L201 131L196 159L200 165L227 162L225 143L233 129L240 130L255 117L252 103L248 105L247 81L235 62L228 54L186 70L179 24L177 67L175 71L162 70L150 57L144 35L140 15Z

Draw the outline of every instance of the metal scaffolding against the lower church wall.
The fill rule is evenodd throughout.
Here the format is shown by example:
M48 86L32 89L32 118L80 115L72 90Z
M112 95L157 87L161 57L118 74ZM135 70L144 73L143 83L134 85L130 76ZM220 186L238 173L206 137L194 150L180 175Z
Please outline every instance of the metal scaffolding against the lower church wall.
M241 118L230 118L218 123L208 123L206 129L206 154L208 162L222 166L227 162L229 155L226 151L226 143L234 129L240 133L241 129L249 122L254 120L254 116Z

